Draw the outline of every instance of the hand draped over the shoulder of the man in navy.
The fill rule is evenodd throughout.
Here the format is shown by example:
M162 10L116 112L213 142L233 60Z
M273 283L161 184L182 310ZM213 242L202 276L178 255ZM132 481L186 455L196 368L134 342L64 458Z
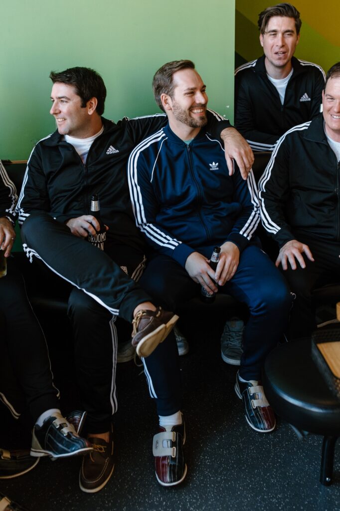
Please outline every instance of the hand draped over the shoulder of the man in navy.
M250 145L235 128L225 128L221 131L221 138L224 142L229 175L232 176L234 173L234 159L238 165L241 176L247 179L254 163L254 154Z

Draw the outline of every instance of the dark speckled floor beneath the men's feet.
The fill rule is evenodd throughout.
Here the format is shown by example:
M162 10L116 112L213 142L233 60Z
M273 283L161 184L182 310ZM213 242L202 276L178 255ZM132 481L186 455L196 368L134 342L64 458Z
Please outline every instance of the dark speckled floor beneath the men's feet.
M205 316L198 314L198 318ZM335 480L329 487L322 486L321 437L308 436L301 442L280 421L270 434L256 433L247 425L234 392L236 368L220 356L221 320L214 315L205 318L205 324L197 324L196 334L190 333L188 321L181 327L190 342L190 353L181 361L188 464L182 485L166 489L156 481L154 404L140 369L129 362L118 366L116 463L106 487L94 495L84 494L78 486L79 459L51 462L42 458L31 473L0 481L0 491L31 511L339 510L340 441ZM4 438L8 431L2 429L10 420L3 409L1 413Z

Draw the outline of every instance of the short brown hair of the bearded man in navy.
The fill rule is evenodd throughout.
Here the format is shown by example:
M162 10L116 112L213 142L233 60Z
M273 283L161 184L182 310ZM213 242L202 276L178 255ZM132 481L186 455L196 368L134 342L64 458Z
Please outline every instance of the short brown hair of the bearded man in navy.
M174 98L173 75L177 71L181 71L181 69L195 69L195 64L191 60L173 60L162 65L154 75L152 89L155 101L163 111L164 108L160 97L162 94L167 94L171 99Z

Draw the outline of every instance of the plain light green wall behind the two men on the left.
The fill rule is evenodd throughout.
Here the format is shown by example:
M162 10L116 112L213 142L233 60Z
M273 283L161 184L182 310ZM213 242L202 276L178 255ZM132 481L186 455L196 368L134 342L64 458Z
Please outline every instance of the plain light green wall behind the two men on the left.
M0 158L28 158L55 129L52 69L95 68L108 89L105 115L118 120L158 111L154 72L189 58L209 106L233 118L234 0L2 0L0 15Z

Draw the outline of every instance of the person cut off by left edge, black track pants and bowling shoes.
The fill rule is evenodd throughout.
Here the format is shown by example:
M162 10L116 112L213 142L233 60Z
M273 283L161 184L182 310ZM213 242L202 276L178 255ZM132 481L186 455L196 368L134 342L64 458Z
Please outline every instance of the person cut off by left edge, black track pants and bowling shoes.
M61 414L46 341L28 300L22 275L10 257L15 239L16 202L15 186L0 161L2 270L3 258L7 263L0 278L0 401L14 419L19 419L28 408L35 424L31 451L0 448L0 479L28 472L41 456L56 459L91 450L90 444L76 433L74 421L68 417L68 422Z

